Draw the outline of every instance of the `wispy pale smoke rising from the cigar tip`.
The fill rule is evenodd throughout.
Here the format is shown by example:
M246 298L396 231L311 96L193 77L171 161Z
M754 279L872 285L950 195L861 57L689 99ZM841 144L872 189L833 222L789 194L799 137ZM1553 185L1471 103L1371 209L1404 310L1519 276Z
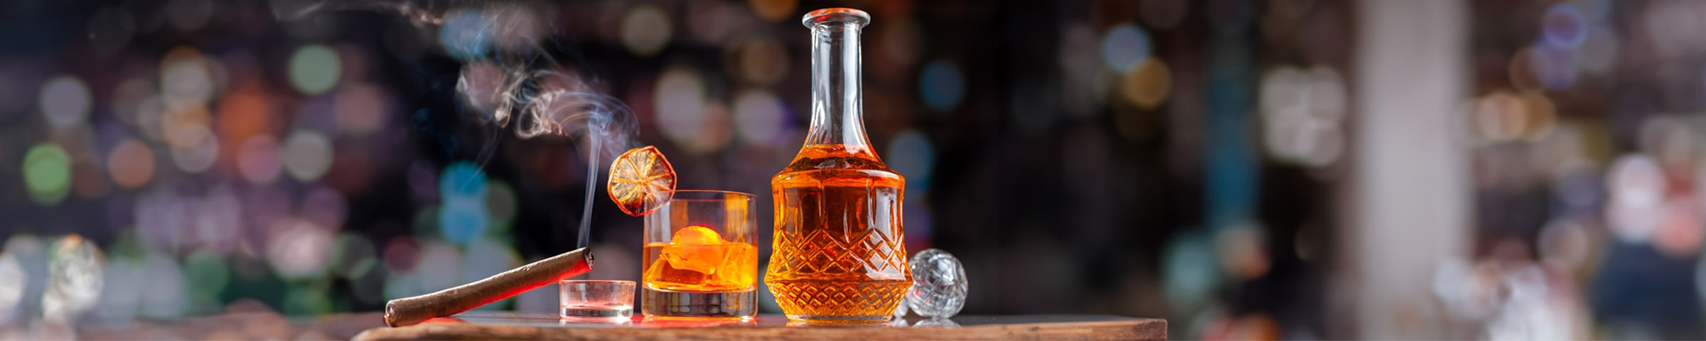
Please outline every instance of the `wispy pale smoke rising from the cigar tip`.
M587 147L587 193L577 247L587 247L599 169L618 153L640 147L636 123L626 104L594 90L585 77L565 66L544 48L554 10L529 10L539 2L471 0L273 0L273 15L297 20L317 12L372 10L396 14L416 29L445 38L440 46L462 61L456 94L469 116L488 126L510 128L515 136L565 136ZM449 32L447 32L449 31ZM491 147L478 159L490 157Z

